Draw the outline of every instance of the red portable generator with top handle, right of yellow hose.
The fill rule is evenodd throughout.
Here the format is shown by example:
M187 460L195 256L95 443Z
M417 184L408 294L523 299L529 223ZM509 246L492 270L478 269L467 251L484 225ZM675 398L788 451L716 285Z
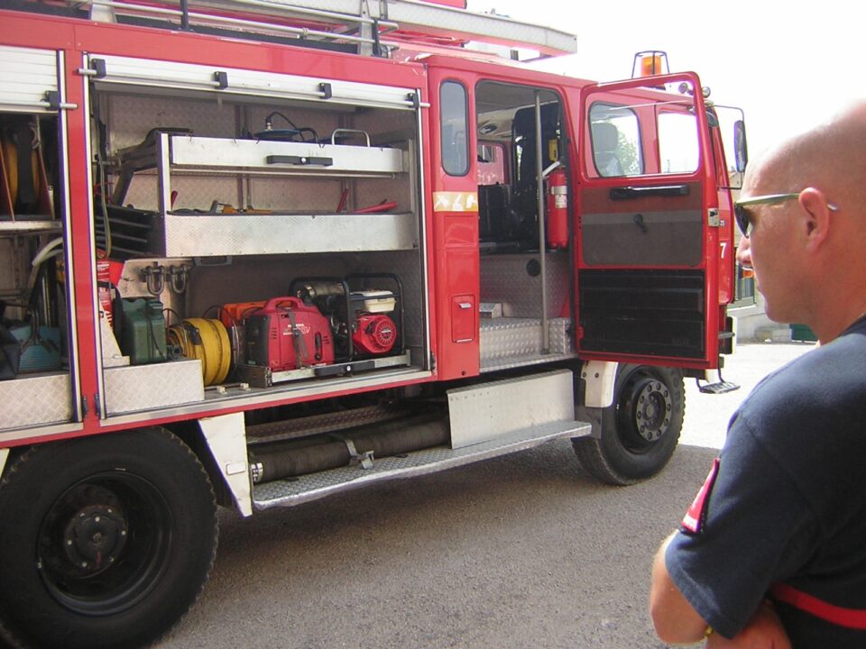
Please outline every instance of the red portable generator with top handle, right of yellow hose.
M334 342L324 315L297 297L273 297L247 315L246 362L272 371L334 362Z

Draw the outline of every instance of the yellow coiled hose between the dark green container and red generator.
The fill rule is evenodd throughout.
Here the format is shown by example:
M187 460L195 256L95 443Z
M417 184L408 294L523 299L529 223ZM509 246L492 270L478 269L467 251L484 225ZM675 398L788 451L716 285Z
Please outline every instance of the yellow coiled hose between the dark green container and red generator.
M201 361L206 386L226 380L232 364L232 345L225 325L219 320L187 318L180 324L172 324L165 335L170 345L180 348L184 358Z

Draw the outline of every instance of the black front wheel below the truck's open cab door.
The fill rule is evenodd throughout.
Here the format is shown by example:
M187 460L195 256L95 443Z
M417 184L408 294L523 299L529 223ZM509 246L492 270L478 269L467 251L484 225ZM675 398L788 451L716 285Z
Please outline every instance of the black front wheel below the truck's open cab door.
M683 375L675 368L621 365L613 405L601 412L601 438L572 440L598 480L629 485L661 471L679 442L686 414Z

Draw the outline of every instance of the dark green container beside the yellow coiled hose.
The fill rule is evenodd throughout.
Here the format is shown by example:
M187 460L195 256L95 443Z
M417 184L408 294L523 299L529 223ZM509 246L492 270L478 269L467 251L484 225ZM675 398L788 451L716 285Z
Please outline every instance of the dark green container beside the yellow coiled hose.
M124 297L117 318L117 343L133 365L168 361L162 303L149 297ZM115 313L116 317L116 313ZM115 332L116 333L116 332Z

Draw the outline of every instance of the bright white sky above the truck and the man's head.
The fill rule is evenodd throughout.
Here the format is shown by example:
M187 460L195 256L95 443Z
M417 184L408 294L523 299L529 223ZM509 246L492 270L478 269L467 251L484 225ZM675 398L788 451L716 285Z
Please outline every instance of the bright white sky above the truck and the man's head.
M745 111L751 158L866 99L861 0L469 0L468 8L576 34L576 54L545 64L573 77L628 78L635 52L667 51L671 72L697 72L713 101Z

